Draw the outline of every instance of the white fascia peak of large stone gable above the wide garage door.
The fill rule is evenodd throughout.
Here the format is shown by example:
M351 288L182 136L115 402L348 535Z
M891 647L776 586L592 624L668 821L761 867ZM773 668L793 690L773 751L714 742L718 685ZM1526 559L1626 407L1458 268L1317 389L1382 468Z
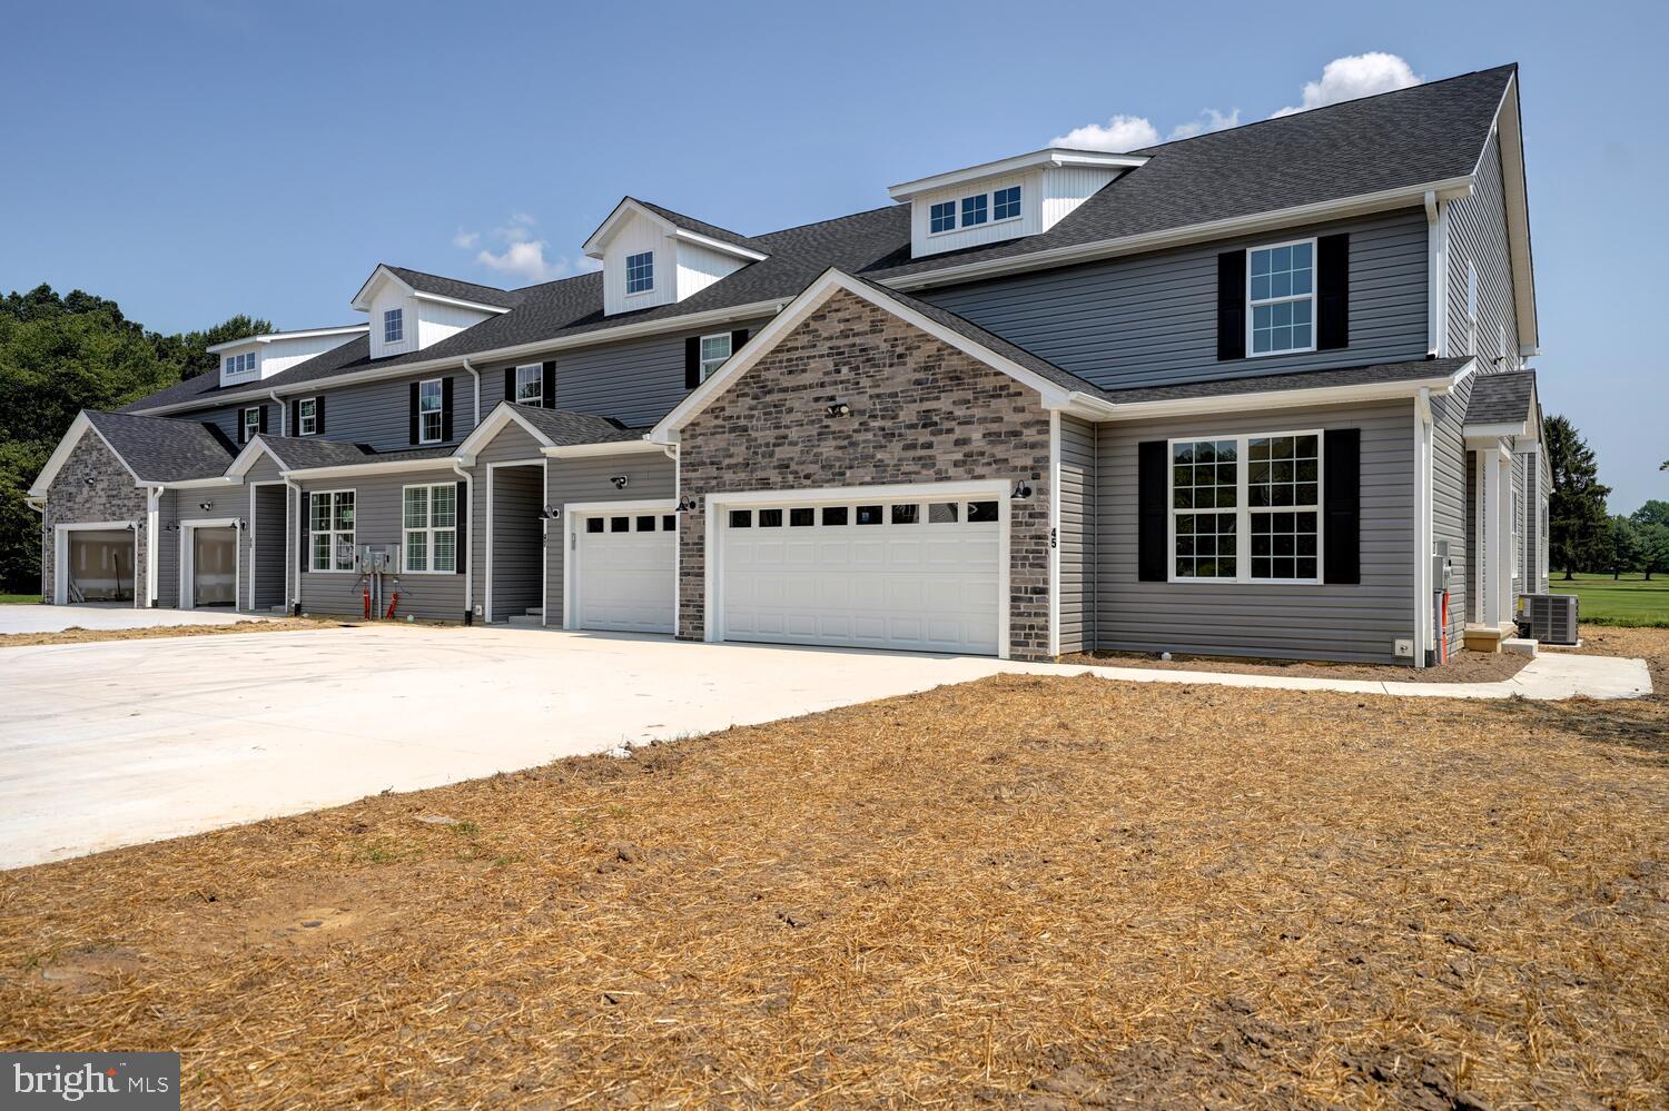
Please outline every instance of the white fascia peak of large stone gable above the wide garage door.
M976 344L958 332L951 332L936 320L921 315L915 309L901 305L891 297L876 294L875 289L865 282L860 282L831 267L824 270L816 282L808 285L799 297L789 302L783 312L776 314L769 324L759 329L759 334L748 340L748 345L741 349L739 355L729 359L723 367L719 367L718 374L711 375L706 382L691 390L684 400L673 409L673 412L661 417L659 424L649 430L648 439L653 444L676 444L678 430L683 425L689 424L689 420L703 409L718 400L718 397L729 389L731 382L753 369L784 335L799 327L806 317L816 312L823 302L843 290L853 294L855 297L861 297L871 305L893 314L905 324L926 332L933 339L955 347L965 355L976 359L995 370L1001 370L1021 385L1036 390L1046 407L1060 407L1070 395L1070 390L1033 374L1031 370L1026 370L1020 364L998 355L988 347Z

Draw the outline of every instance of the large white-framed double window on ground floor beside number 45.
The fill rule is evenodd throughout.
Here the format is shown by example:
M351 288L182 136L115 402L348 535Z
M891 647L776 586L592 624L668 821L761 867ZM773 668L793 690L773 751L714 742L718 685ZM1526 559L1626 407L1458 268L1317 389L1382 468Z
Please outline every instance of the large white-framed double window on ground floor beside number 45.
M1322 581L1322 434L1170 442L1170 581Z

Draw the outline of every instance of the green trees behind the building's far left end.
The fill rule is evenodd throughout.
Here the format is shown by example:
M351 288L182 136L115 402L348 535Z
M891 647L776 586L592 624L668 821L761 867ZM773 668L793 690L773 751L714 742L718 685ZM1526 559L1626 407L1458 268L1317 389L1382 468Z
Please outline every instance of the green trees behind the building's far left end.
M217 369L214 344L270 332L237 315L200 332L164 335L120 305L38 285L0 297L0 592L40 589L40 514L28 487L82 409L120 409Z

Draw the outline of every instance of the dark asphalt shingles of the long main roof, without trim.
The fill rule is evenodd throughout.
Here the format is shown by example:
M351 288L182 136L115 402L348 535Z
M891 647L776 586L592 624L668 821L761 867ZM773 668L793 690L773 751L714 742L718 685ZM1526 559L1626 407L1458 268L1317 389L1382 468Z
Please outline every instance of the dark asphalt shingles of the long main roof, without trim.
M367 369L479 355L507 347L572 339L628 324L791 300L826 269L870 280L925 274L970 262L1011 259L1060 247L1252 215L1277 209L1422 185L1470 173L1517 67L1504 65L1394 93L1263 120L1138 153L1148 162L1122 175L1048 232L931 257L910 257L910 207L888 205L766 235L739 235L648 202L679 227L751 247L768 257L741 267L683 302L603 314L603 275L581 274L517 290L389 267L419 289L466 300L501 297L511 312L482 320L417 352L372 360L359 337L264 380L289 387ZM983 340L981 340L983 342ZM1018 350L1018 349L1016 349ZM1056 369L1058 370L1058 369ZM224 392L242 392L232 387ZM1073 387L1078 389L1078 387ZM220 394L217 375L200 375L129 409L202 402Z

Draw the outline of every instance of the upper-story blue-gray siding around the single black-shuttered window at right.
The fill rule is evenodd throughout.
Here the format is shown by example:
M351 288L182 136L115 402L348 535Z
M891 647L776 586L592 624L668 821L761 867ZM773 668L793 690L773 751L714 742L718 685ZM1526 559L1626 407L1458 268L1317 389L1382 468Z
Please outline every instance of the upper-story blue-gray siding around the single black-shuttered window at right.
M1217 255L1350 234L1350 345L1217 360ZM1407 210L920 294L1105 389L1422 359L1425 214Z

